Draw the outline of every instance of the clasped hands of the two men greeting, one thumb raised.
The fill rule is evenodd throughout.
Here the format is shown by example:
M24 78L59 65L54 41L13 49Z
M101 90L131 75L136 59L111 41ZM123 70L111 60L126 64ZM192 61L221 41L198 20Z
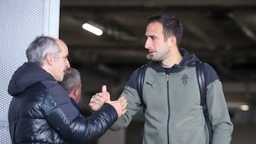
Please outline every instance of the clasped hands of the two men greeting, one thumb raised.
M102 92L99 92L92 96L90 99L90 109L92 111L98 111L103 104L111 104L114 109L117 111L118 117L122 116L127 110L127 100L124 96L120 96L116 101L110 101L110 93L107 92L107 87L102 86Z

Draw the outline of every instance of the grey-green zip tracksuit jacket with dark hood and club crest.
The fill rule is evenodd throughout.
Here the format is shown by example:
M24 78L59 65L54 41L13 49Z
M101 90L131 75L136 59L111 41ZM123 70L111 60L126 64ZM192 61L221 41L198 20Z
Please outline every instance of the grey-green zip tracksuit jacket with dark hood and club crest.
M143 97L144 136L146 144L206 144L208 129L200 105L200 92L196 77L195 55L180 49L183 60L166 74L159 62L150 61L146 69ZM213 143L230 143L233 124L225 104L222 84L213 67L205 64L206 100L213 125ZM112 130L126 128L133 116L142 108L137 93L137 70L132 74L123 96L127 98L127 113L118 119Z

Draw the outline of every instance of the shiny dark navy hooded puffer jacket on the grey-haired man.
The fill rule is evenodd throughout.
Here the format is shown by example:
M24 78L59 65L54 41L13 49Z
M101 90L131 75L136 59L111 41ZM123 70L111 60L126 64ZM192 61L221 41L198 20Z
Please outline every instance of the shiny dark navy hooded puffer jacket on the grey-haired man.
M26 62L9 83L12 143L78 143L99 138L117 120L110 104L85 118L63 87L41 67Z

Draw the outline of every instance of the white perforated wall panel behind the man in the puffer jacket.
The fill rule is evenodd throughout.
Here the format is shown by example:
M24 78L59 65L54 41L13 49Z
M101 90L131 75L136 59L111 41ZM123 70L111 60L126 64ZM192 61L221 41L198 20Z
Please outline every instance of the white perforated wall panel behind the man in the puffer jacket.
M26 62L26 48L38 35L58 38L60 0L0 1L0 143L11 143L7 92L14 71Z

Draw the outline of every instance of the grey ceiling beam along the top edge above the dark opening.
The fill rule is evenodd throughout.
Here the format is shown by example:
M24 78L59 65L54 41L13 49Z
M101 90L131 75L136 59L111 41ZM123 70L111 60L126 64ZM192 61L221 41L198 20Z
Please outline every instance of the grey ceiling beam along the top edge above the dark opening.
M62 0L61 5L63 6L255 6L255 0Z

